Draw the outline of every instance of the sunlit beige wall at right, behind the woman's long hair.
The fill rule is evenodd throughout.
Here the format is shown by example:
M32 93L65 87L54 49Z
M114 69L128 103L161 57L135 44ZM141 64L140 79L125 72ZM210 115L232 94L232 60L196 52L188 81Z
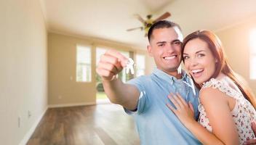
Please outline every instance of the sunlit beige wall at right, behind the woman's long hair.
M256 29L256 18L220 30L216 34L223 42L231 67L247 80L256 94L256 80L249 79L249 33L252 29Z

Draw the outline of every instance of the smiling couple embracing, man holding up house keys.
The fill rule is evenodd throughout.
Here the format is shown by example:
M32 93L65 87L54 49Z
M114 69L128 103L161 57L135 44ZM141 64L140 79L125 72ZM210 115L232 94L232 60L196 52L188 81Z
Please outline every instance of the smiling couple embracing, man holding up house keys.
M163 20L148 41L157 67L151 75L121 82L116 75L127 58L113 50L97 67L111 102L135 117L140 144L255 144L255 99L214 33L196 31L183 41L180 27ZM193 80L178 71L181 60Z

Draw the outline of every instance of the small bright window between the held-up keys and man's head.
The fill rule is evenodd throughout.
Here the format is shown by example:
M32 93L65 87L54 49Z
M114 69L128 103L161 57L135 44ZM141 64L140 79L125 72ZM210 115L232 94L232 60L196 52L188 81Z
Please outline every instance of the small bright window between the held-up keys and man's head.
M140 75L145 75L145 55L136 55L136 77Z

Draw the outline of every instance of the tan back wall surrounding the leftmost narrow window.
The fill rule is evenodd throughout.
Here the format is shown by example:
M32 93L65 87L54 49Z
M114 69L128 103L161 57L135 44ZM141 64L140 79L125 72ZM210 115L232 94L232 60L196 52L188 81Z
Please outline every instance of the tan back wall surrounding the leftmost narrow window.
M76 82L76 44L92 46L92 82ZM96 96L96 60L95 48L113 48L123 51L135 51L132 47L100 39L66 36L57 33L48 35L48 65L49 65L49 105L95 104ZM135 51L145 54L145 51ZM148 57L147 57L148 59ZM148 66L150 61L146 61ZM147 67L146 73L151 71ZM72 78L72 79L71 79Z

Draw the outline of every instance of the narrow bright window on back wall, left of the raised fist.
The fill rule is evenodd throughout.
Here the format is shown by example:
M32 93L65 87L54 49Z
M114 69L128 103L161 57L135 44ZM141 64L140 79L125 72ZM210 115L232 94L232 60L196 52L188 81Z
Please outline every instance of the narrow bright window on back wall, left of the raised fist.
M92 81L92 59L89 46L76 46L76 82Z

